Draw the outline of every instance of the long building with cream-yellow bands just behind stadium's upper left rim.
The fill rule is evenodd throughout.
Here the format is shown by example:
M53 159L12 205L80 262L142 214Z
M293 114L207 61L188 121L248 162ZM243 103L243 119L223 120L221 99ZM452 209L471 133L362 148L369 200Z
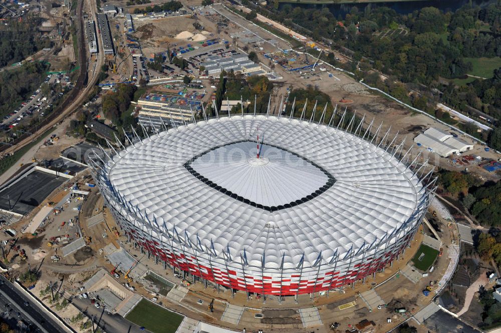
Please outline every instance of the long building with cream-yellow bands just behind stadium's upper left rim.
M161 129L162 122L166 125L188 123L192 120L191 112L197 114L201 110L200 100L160 94L140 98L137 105L141 108L139 122L156 129Z

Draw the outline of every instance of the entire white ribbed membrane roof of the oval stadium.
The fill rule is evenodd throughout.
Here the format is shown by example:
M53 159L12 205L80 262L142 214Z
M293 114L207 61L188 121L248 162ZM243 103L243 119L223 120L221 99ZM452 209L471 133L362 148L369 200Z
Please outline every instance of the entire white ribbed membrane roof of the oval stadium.
M426 196L384 149L336 128L266 116L161 132L119 152L106 172L116 193L163 230L156 237L168 242L169 233L267 268L384 247L414 226L407 222Z

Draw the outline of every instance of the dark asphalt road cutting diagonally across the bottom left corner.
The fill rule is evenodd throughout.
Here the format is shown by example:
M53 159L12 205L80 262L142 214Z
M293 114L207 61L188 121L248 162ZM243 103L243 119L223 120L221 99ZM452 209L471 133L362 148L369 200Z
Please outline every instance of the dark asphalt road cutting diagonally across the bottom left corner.
M6 303L10 303L10 306L15 308L16 312L21 312L25 318L35 323L38 326L39 331L41 332L66 332L59 326L56 321L49 317L37 303L34 303L31 299L25 297L25 295L17 290L14 285L3 275L0 275L0 281L4 282L2 285L0 285L0 305L3 305L5 307ZM28 302L29 305L24 305L24 302Z

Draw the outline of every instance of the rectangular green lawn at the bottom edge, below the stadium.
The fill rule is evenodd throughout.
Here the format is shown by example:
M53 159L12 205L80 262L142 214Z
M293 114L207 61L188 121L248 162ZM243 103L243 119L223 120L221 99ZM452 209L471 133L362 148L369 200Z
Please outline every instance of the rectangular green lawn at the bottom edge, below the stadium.
M143 298L125 316L125 319L144 326L153 333L174 333L183 320L183 316Z

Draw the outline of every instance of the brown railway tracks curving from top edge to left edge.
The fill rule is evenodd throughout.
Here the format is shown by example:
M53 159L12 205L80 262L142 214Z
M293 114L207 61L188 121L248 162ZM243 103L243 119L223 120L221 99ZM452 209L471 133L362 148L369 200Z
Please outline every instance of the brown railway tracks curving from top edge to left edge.
M55 127L57 124L61 123L66 117L71 115L79 106L83 104L90 91L94 88L97 82L98 75L87 82L87 71L88 64L86 58L85 49L85 37L84 37L84 21L83 21L83 5L84 0L79 0L77 5L77 21L79 22L79 29L77 32L77 43L79 48L79 66L80 75L77 79L75 87L69 93L65 105L61 105L57 110L55 110L49 117L46 118L45 123L43 122L40 127L33 134L25 134L17 139L12 146L0 146L0 159L7 155L13 154L19 149L37 140L42 134L44 134L49 129ZM94 8L93 8L94 9ZM97 68L101 68L103 63L103 57L99 54ZM69 103L69 104L68 104ZM28 132L32 132L33 129L29 129Z

